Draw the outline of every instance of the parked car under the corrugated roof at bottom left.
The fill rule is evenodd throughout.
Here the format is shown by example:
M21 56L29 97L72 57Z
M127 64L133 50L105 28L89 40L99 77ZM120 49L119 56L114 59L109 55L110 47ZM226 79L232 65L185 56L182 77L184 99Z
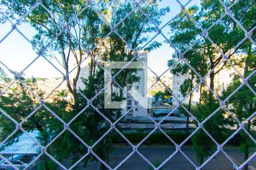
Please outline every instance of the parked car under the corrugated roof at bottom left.
M6 158L18 169L27 168L28 165L35 159L33 155L13 155ZM14 169L8 162L1 160L0 170ZM32 163L27 169L36 169L36 162Z

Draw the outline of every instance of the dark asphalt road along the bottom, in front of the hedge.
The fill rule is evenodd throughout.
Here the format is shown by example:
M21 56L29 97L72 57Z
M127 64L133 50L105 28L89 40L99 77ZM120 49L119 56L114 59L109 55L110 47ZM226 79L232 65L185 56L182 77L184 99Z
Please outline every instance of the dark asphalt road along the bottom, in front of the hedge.
M131 148L117 148L110 156L109 165L112 168L115 168L123 159L126 158L127 155L131 153ZM175 148L170 147L142 147L138 149L141 154L143 154L152 164L154 164L155 159L157 158L160 163L168 158L174 151ZM193 163L199 165L196 162L196 155L193 148L182 148L184 154L188 156L189 159L192 160ZM234 148L225 148L224 151L232 157L237 163L243 162L243 153L238 149ZM250 152L250 155L253 154L255 150ZM68 168L68 161L66 160L64 165ZM82 163L79 164L78 169L97 169L98 163L89 163L86 168L82 167ZM129 159L126 160L118 169L148 169L148 163L141 158L137 153L134 153ZM170 159L166 164L164 164L164 168L166 169L195 169L193 165L180 153L177 154ZM210 160L208 164L205 165L204 169L225 169L225 170L233 170L233 164L230 162L228 158L222 152L218 153L216 158ZM256 170L256 157L251 160L249 163L249 169Z

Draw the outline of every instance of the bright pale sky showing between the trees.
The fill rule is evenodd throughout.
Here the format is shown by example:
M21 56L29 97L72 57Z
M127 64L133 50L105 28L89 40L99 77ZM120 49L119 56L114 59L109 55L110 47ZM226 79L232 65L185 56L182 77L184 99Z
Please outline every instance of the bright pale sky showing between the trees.
M180 2L185 5L189 1L180 0ZM200 0L193 0L189 2L188 6L195 4L199 5ZM159 2L159 7L166 6L170 7L170 12L163 17L162 24L159 25L159 28L169 22L171 18L174 18L174 16L176 16L181 9L179 3L177 3L175 0L162 0ZM57 69L55 69L55 67L53 67L43 57L38 57L36 50L32 49L30 42L23 37L25 36L28 40L31 40L36 34L36 30L34 28L32 28L29 24L21 24L16 27L19 32L16 29L10 32L11 28L12 25L10 22L0 24L0 67L4 69L7 74L9 73L5 69L5 66L7 66L10 70L17 71L19 73L23 71L26 77L34 76L49 78L62 76L57 69L64 72L63 68L53 59L49 61L51 61L53 65L57 67ZM170 32L168 25L162 29L162 32L166 37L168 37L168 33ZM6 37L8 33L9 35ZM155 34L150 34L148 36L150 36L151 39L155 36ZM162 35L156 36L154 40L162 42L162 46L148 53L148 67L154 70L157 75L161 75L168 69L167 61L171 59L174 49L164 42L164 37ZM153 74L151 71L148 70L148 76L152 75ZM170 75L169 71L167 71L164 75Z

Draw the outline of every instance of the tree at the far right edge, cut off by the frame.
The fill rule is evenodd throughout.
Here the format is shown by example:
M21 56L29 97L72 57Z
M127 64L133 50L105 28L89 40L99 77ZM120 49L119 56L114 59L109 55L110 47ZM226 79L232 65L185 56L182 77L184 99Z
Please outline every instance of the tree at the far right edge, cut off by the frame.
M237 18L237 20L242 23L243 27L250 31L256 25L255 15L255 3L251 1L240 1L236 6L234 6L233 15ZM241 15L243 14L243 15ZM255 36L255 29L250 33L251 37ZM238 62L238 66L243 71L243 77L246 78L255 70L255 46L250 41L245 41L242 45L240 45L240 49L237 52L240 55L240 62ZM236 62L237 63L237 62ZM253 75L248 83L251 87L255 89L255 75ZM229 96L238 86L241 84L240 76L234 76L233 82L230 84L228 89L222 93L222 98L225 99ZM239 91L236 92L230 99L227 101L226 105L230 109L234 109L235 116L237 116L238 120L243 122L246 118L251 116L256 108L255 108L255 96L252 91L250 91L247 87L243 86ZM254 122L254 118L249 120L245 124L245 129L250 133L251 124ZM238 125L237 125L238 128ZM240 148L245 153L244 160L249 158L249 137L245 133L241 133L242 138L238 138L241 140ZM244 167L245 170L248 169L248 164Z

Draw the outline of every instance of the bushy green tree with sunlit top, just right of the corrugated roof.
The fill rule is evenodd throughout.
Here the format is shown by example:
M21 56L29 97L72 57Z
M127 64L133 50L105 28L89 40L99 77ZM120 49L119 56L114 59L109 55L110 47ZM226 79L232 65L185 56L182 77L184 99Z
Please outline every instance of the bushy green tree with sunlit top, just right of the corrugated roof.
M59 116L63 121L68 122L74 116L74 113L72 112L70 107L71 103L65 98L66 94L66 91L57 91L57 94L53 97L53 101L45 102L45 104L49 109L51 109L51 111L56 113L57 116ZM55 138L63 130L63 124L59 120L57 120L55 116L49 114L47 111L44 111L43 114L44 126L43 130L40 131L39 140L42 146L46 146L49 142L53 140L53 138ZM75 140L72 139L72 141ZM64 139L62 143L54 142L51 146L49 146L49 148L51 149L48 149L47 152L51 154L53 157L55 157L55 159L61 160L62 158L65 157L65 155L57 155L60 154L61 152L56 152L54 149L52 149L52 147L62 148L64 150L64 147L61 146L67 144L66 142L66 139ZM56 143L58 145L56 145ZM67 147L67 145L65 147ZM75 153L74 155L76 154L77 153ZM57 169L57 164L53 162L50 158L48 158L48 156L44 155L44 159L44 165L46 169Z

